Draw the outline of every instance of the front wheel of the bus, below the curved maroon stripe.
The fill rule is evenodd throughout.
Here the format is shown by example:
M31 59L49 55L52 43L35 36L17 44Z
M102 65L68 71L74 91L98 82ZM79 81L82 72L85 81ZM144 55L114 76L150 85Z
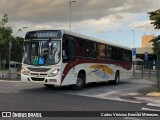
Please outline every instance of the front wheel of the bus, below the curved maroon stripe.
M80 90L85 86L85 77L83 74L78 74L76 84L72 85L72 89Z

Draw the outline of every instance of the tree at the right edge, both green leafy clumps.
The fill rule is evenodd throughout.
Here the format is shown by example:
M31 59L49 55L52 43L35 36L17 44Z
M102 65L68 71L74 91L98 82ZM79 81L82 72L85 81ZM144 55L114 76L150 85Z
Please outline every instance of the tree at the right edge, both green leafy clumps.
M152 21L155 29L160 29L160 9L152 12L148 12L149 19ZM152 39L150 42L153 42L153 52L160 53L160 47L157 45L157 41L160 40L160 35Z

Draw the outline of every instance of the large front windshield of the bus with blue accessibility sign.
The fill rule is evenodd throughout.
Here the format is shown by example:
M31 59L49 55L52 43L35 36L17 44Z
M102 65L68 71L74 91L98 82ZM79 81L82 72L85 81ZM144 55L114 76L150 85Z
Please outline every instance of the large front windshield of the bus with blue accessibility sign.
M29 40L24 42L23 63L54 65L60 61L60 40Z

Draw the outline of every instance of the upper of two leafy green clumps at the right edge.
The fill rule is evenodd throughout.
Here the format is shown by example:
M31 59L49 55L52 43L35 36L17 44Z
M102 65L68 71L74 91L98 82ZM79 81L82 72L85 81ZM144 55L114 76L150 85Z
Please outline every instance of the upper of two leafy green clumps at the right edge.
M152 21L151 24L153 24L155 29L160 29L160 9L149 12L148 14L150 20Z

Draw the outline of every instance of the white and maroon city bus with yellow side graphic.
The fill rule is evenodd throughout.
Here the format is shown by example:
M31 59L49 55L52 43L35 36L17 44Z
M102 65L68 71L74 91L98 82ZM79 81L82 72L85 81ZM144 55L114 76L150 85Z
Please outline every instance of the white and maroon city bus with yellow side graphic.
M91 82L118 84L132 75L132 52L67 30L36 30L25 35L21 81L46 87L82 89Z

